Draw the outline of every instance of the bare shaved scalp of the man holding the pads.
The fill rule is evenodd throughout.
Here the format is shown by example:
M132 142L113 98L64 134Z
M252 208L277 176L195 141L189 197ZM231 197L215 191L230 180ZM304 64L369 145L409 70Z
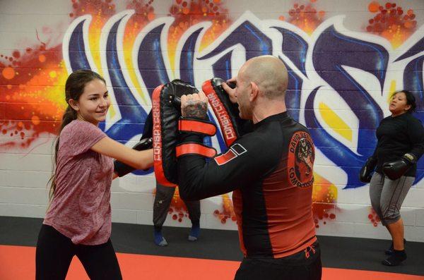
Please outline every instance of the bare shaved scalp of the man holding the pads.
M275 56L257 56L240 69L244 80L254 82L268 99L285 97L288 72L283 61Z

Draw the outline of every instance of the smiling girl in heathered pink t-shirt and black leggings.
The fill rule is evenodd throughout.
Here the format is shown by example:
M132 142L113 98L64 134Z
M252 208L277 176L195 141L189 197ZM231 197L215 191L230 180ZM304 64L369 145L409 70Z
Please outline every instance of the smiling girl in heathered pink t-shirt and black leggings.
M36 279L65 279L73 255L90 279L122 279L110 242L112 158L147 169L153 151L131 150L98 128L110 106L98 73L71 73L65 92L68 107L55 147L51 203L37 241Z

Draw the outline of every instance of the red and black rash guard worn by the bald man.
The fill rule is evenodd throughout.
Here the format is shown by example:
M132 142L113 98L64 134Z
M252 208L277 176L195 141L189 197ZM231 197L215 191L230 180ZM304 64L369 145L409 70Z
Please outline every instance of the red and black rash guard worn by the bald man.
M201 142L185 135L182 142ZM179 195L200 200L232 193L240 247L246 257L279 258L312 245L314 145L307 128L286 112L254 125L225 154L206 161L178 158Z

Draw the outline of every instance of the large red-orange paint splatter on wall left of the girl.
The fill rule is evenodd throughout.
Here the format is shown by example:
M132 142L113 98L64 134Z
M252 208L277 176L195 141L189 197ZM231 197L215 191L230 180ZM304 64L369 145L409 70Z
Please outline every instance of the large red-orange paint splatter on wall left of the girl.
M0 148L26 148L40 133L57 133L67 75L61 46L40 44L0 58Z

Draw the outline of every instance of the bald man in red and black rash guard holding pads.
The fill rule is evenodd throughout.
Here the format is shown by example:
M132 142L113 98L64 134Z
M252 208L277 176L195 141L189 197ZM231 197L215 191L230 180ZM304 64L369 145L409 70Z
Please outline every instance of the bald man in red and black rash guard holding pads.
M274 56L258 56L231 81L234 90L223 88L253 131L211 161L199 154L179 157L179 195L201 200L232 192L245 255L235 279L321 279L312 219L314 144L286 112L287 69ZM181 101L183 118L206 118L203 92ZM181 142L201 143L202 137L185 133Z

